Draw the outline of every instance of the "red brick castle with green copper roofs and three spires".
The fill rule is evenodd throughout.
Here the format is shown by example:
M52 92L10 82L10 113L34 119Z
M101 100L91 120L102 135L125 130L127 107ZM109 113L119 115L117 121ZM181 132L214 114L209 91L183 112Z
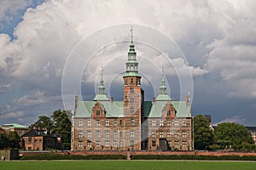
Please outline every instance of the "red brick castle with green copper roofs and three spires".
M125 65L123 101L108 99L102 77L92 101L75 96L71 150L194 150L189 95L172 101L162 71L160 93L144 101L132 32Z

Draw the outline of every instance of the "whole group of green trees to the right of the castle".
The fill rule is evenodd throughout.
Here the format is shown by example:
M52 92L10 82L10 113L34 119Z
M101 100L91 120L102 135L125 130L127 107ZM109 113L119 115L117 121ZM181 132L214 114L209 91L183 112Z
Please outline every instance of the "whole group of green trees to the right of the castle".
M251 133L243 125L223 122L210 127L205 116L194 117L195 150L240 150L256 151Z

